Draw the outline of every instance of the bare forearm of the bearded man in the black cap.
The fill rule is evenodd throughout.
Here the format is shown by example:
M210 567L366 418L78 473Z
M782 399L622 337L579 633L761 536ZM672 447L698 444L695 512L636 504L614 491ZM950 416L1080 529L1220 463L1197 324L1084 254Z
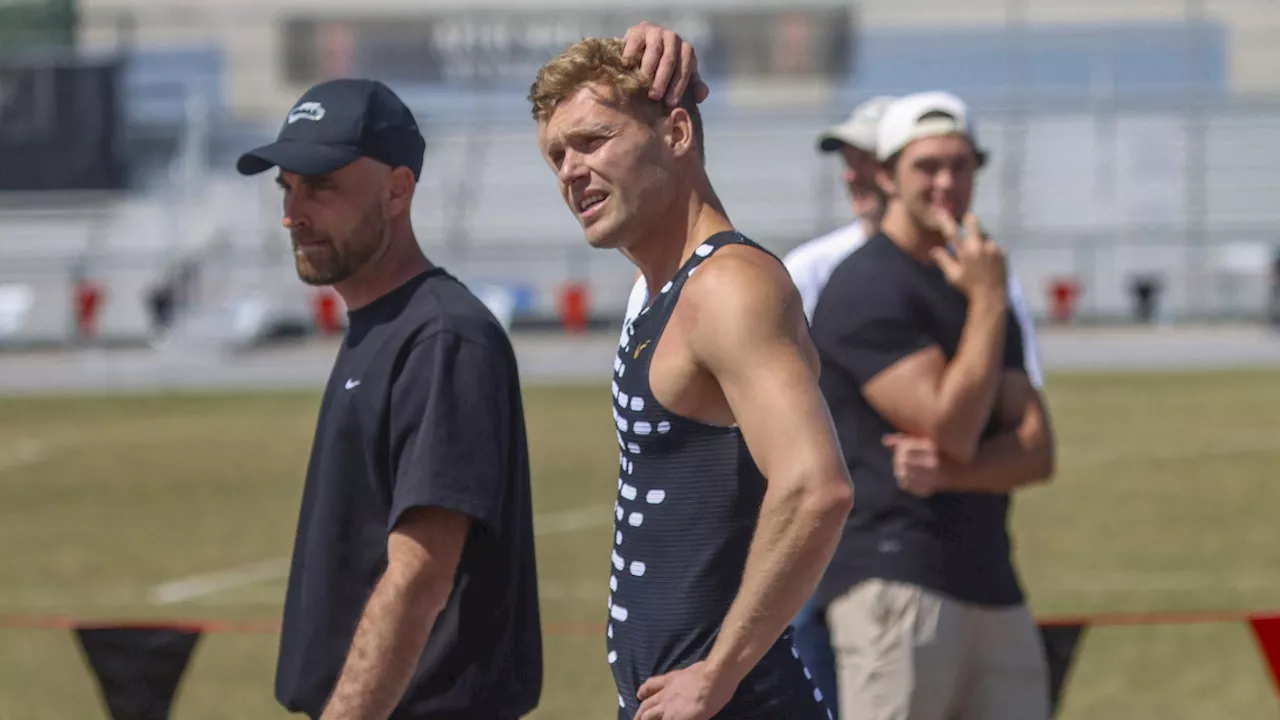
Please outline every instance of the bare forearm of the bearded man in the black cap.
M396 710L453 592L471 519L439 507L404 514L323 720L385 719Z

